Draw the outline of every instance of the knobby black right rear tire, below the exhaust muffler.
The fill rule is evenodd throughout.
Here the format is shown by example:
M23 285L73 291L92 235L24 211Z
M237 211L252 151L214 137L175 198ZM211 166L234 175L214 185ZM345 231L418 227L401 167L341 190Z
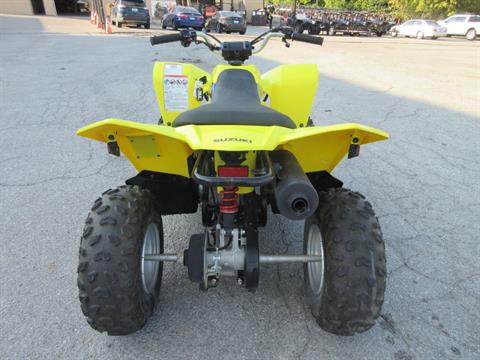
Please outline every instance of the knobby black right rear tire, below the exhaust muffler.
M319 193L319 209L305 222L304 251L311 226L323 241L324 276L320 294L310 286L304 265L306 300L324 330L361 333L375 324L386 286L385 245L380 225L365 198L347 189Z

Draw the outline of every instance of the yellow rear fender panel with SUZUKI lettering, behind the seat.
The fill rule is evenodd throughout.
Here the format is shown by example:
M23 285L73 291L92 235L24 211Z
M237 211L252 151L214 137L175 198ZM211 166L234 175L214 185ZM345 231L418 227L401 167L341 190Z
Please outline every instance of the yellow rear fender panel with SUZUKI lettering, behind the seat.
M190 176L187 158L196 150L285 149L295 155L305 172L331 172L347 154L354 139L359 145L388 139L386 132L355 123L297 129L244 125L172 128L118 119L85 126L77 134L97 141L117 141L121 152L138 171L185 177Z

